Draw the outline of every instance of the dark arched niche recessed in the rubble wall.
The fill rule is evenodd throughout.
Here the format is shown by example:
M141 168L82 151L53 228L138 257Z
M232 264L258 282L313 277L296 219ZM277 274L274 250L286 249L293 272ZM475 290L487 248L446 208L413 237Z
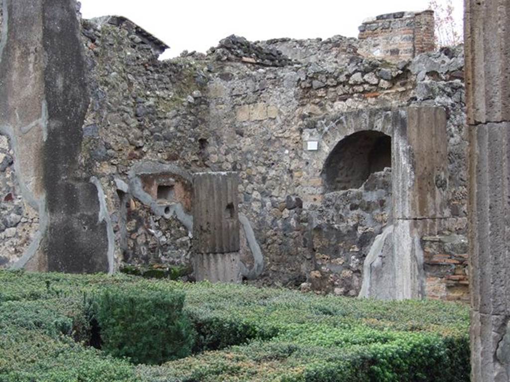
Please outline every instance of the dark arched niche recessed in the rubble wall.
M348 135L331 151L322 176L326 192L359 188L370 174L391 168L391 138L379 131Z

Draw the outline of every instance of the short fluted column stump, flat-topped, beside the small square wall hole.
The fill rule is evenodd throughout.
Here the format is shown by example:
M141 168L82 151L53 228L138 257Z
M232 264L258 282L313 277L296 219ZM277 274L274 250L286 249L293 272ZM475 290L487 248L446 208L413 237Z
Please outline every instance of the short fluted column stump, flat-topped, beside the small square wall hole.
M193 176L193 248L197 281L239 282L238 175Z

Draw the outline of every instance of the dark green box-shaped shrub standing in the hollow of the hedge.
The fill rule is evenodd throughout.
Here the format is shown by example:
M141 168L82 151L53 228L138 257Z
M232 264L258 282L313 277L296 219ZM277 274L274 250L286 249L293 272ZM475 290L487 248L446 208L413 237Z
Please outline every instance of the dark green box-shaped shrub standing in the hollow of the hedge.
M108 287L93 297L101 349L134 363L161 364L191 354L195 331L175 290Z

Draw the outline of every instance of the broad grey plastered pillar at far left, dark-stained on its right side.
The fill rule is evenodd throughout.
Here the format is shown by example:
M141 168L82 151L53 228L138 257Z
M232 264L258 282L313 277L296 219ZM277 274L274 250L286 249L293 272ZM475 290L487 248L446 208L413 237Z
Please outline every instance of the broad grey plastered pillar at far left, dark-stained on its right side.
M0 1L0 131L22 196L39 212L39 231L16 267L112 270L103 192L79 171L90 99L77 3Z

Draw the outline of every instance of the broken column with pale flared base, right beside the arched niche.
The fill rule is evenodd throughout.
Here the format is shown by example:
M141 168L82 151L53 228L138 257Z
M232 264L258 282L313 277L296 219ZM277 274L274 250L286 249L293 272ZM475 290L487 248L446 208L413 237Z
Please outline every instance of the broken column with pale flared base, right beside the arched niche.
M446 113L409 107L392 116L393 219L374 240L363 270L361 297L425 296L421 238L447 217Z

